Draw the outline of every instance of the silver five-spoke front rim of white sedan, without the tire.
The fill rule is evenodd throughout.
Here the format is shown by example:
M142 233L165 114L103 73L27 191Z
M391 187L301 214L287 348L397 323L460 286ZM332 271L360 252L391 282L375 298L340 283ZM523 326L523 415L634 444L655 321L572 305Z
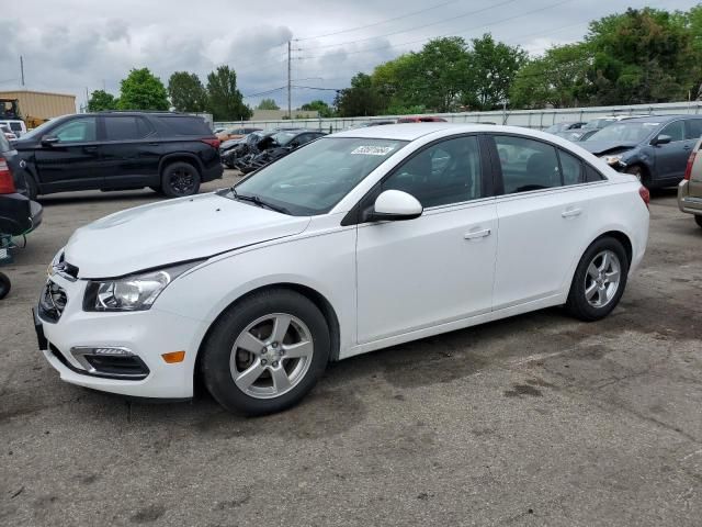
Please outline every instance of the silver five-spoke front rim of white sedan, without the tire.
M312 333L296 316L272 313L250 323L231 347L235 384L256 399L290 392L305 377L314 354Z

